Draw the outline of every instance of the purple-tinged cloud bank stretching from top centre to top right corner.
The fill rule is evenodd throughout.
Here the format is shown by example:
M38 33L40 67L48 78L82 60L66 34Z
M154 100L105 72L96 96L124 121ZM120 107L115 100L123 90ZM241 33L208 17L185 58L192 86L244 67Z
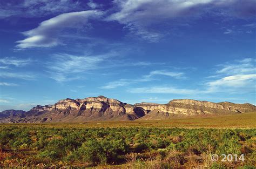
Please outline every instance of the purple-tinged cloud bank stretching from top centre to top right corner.
M228 18L254 17L255 7L253 6L256 5L252 1L245 1L241 4L238 0L117 0L113 1L113 4L117 12L112 13L106 20L124 24L124 28L128 28L133 35L147 40L147 42L158 42L165 34L169 33L163 30L154 30L154 26L163 24L163 21L171 21L172 23L173 21L179 21L181 26L184 25L184 22L188 21L187 18L190 18L189 22L191 22L194 19L200 18L206 12ZM226 8L229 9L228 12L226 12ZM232 32L232 30L225 31L225 33Z

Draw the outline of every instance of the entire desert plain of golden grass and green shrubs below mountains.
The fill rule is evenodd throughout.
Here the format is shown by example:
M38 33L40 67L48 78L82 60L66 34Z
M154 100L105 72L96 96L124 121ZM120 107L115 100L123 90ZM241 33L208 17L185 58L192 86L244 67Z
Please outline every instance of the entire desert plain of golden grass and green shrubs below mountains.
M255 168L254 114L1 124L0 167ZM212 160L213 154L219 159ZM232 160L221 161L221 154Z

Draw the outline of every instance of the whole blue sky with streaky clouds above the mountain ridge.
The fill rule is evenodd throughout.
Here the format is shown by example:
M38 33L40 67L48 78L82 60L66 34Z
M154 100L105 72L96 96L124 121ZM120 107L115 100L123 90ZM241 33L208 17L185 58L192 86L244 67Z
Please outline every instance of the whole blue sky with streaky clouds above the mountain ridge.
M256 1L0 2L0 111L103 95L256 104Z

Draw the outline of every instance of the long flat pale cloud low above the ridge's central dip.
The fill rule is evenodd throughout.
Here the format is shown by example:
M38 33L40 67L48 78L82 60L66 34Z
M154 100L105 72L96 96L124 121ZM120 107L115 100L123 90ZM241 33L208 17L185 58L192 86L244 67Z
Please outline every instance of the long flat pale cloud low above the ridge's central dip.
M198 90L190 89L177 89L176 87L163 87L163 86L153 86L153 87L137 87L129 90L131 93L163 93L163 94L196 94L199 93Z

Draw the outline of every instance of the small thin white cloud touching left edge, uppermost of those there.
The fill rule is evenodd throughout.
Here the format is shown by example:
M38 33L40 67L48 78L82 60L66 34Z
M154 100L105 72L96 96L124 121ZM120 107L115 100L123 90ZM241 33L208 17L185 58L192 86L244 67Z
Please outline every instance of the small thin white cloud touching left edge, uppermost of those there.
M18 59L14 57L5 57L0 59L0 63L4 65L14 65L16 67L22 67L29 64L32 60L31 59ZM8 67L4 68L7 69Z

